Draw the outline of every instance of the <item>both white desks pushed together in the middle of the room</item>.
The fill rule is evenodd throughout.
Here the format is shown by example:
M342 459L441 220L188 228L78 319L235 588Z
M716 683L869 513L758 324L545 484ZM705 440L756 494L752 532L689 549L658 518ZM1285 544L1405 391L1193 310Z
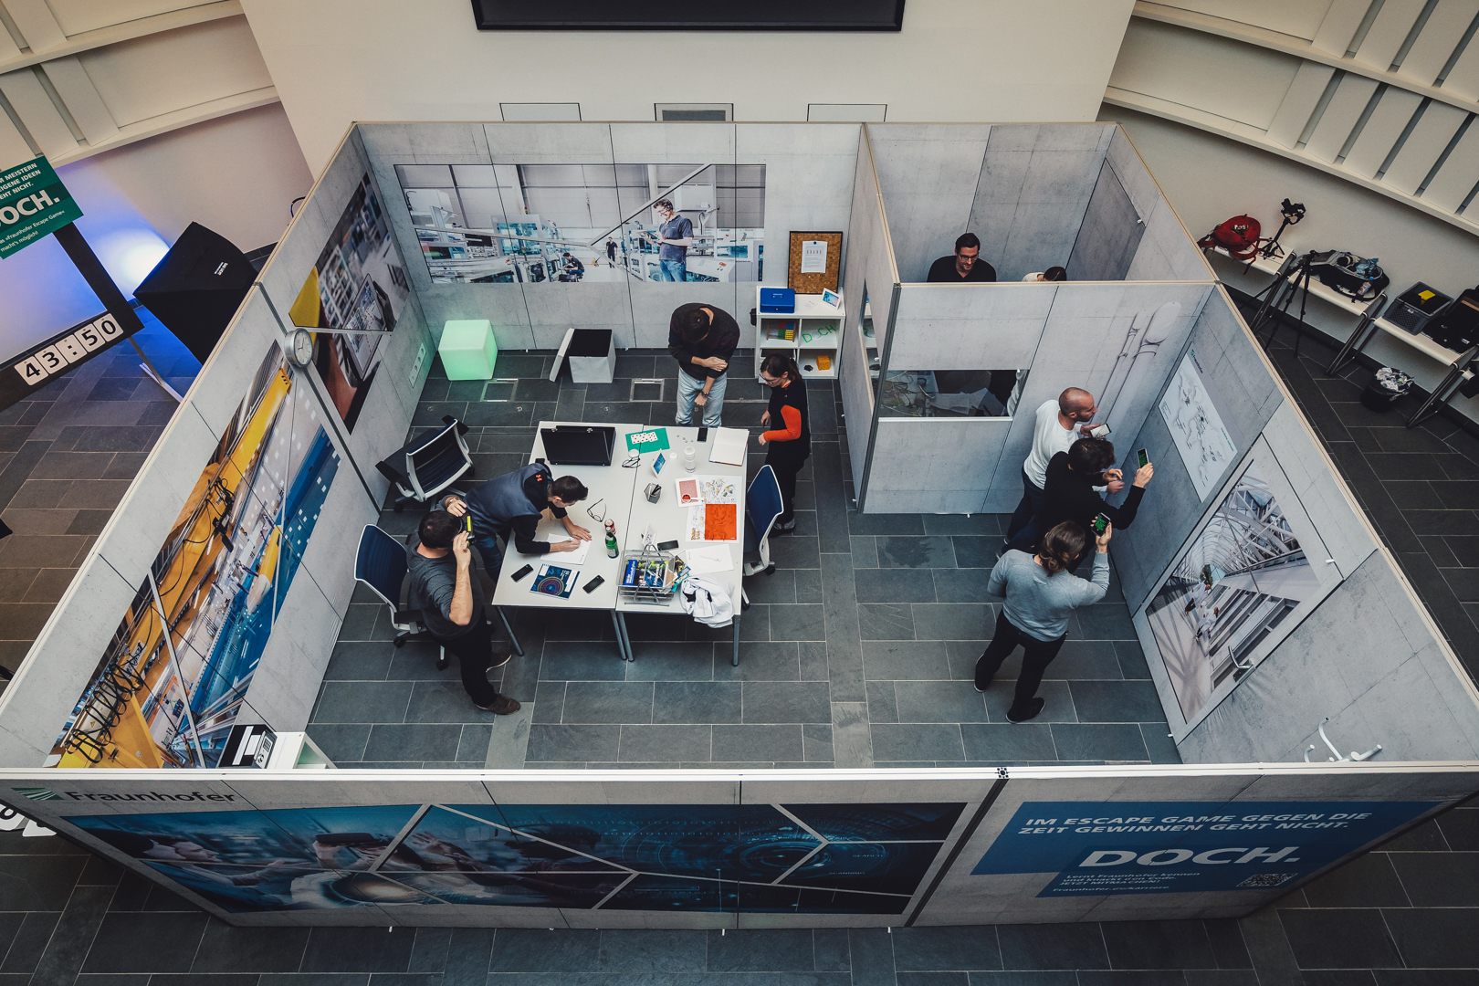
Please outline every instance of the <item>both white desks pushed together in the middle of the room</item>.
M731 599L735 603L735 618L734 618L734 656L732 662L740 664L740 600L741 596L741 575L744 565L744 466L723 466L720 463L708 461L710 442L698 445L698 469L692 473L683 470L682 452L685 443L697 443L698 429L697 427L669 427L667 439L671 448L666 451L669 466L663 470L663 479L658 480L652 476L652 460L657 458L657 452L648 452L640 457L636 467L624 467L623 463L632 458L632 452L627 451L627 435L633 432L648 432L652 430L646 424L611 424L611 423L592 423L592 421L540 421L540 429L555 427L556 424L586 424L595 427L614 427L615 446L611 452L611 466L550 466L550 472L555 476L575 476L580 482L586 483L590 495L581 503L575 504L569 510L569 516L575 523L590 528L592 545L586 553L586 560L578 566L580 572L575 578L575 591L569 594L569 599L559 599L556 596L544 596L541 593L531 591L534 579L538 575L541 565L556 565L561 566L561 559L565 553L546 553L546 554L521 554L513 548L510 541L506 545L503 559L503 572L500 574L498 582L493 593L493 605L498 609L500 615L507 606L516 608L537 608L537 609L603 609L611 613L611 624L617 634L617 650L620 656L626 661L632 661L632 639L627 634L626 621L623 613L627 612L646 612L646 613L673 613L679 616L686 616L683 608L677 603L677 596L669 599L666 606L651 606L643 603L634 603L621 599L617 588L621 584L621 557L608 557L605 545L605 531L603 522L596 520L592 516L595 510L596 516L602 516L605 520L617 522L617 541L623 545L623 553L636 551L643 547L643 532L651 525L657 541L677 541L680 550L689 547L713 547L717 544L726 544L722 541L688 541L685 538L688 526L688 509L674 507L676 494L673 491L673 479L677 476L698 476L698 475L723 475L723 476L738 476L740 485L740 540L728 543L731 545L734 568L731 572L719 572L710 575L714 581L726 581L732 587ZM544 442L540 435L534 438L534 449L529 452L529 461L537 458L544 458ZM663 498L652 504L646 501L643 489L649 482L661 482ZM568 538L565 532L565 525L561 520L546 517L540 520L538 538L541 541L561 541ZM518 582L507 575L519 571L525 565L531 565L534 572L525 575ZM574 568L574 566L571 566ZM583 585L590 579L600 575L605 581L598 585L593 591L587 593ZM509 627L509 636L513 637L513 628L509 625L507 618L504 618L504 625ZM518 637L513 637L515 647L518 647ZM522 649L521 649L522 653Z

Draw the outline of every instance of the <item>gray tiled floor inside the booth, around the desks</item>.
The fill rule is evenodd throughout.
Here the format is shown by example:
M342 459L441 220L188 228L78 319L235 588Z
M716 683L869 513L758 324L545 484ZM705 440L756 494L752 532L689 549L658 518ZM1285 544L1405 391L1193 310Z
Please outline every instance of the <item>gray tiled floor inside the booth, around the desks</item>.
M498 375L521 375L512 402L484 402L481 383L448 383L438 368L416 427L444 414L495 421L467 436L488 477L527 460L540 417L671 420L671 378L660 404L593 401L629 395L632 377L669 373L666 355L621 356L612 384L558 387L544 378L547 359L500 358ZM797 483L797 532L772 541L774 575L745 579L753 606L740 621L738 667L729 630L688 619L630 618L636 661L624 664L603 613L510 613L525 656L490 679L531 707L525 732L475 710L457 671L435 670L429 645L395 650L386 609L361 591L309 733L346 767L1174 763L1118 584L1071 621L1037 721L1006 721L1021 653L989 692L975 690L995 621L985 585L1004 517L849 510L836 392L809 393L815 451ZM760 398L735 384L725 424L757 426ZM751 472L762 461L753 454ZM417 519L386 511L382 526L404 534Z

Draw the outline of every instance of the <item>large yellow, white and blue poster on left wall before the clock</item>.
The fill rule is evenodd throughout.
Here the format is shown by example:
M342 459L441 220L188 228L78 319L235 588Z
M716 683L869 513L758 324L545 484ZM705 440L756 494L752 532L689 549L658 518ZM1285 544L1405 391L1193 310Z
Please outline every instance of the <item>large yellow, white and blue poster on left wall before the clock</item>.
M271 344L47 766L219 763L337 470L318 401Z

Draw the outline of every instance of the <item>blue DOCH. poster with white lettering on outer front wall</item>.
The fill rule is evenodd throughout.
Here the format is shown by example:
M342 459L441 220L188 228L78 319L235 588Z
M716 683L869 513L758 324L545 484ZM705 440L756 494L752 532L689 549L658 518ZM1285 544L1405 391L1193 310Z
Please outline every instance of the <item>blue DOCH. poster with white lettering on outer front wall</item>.
M1430 801L1028 801L972 875L1057 874L1037 894L1287 887Z

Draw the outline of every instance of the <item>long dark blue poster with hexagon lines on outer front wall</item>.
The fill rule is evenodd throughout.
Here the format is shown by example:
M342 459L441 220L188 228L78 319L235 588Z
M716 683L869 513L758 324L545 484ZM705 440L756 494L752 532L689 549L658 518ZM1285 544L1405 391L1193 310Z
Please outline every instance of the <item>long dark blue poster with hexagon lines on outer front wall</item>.
M930 804L435 804L70 817L232 911L476 905L904 914L960 817Z

